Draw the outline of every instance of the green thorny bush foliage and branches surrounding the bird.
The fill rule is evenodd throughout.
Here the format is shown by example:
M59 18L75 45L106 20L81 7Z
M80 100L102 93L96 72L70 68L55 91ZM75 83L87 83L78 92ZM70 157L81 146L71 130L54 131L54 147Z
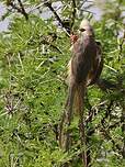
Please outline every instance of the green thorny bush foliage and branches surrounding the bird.
M68 155L58 146L58 123L70 59L63 27L77 31L83 18L91 20L104 56L101 79L86 98L88 160L92 167L124 167L125 1L96 3L103 7L100 21L88 0L2 2L7 12L1 21L9 18L10 23L0 34L0 167L59 167L66 162L81 167L78 118Z

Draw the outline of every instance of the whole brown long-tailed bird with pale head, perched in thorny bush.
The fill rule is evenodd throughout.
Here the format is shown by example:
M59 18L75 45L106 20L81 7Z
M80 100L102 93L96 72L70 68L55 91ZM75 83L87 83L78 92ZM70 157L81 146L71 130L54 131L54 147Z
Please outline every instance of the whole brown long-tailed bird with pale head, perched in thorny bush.
M69 151L71 145L70 131L68 130L72 119L72 108L77 100L79 113L79 132L82 152L83 166L87 167L86 152L86 130L84 130L84 94L88 85L92 85L99 79L102 71L101 46L94 40L94 32L87 20L80 24L78 40L73 41L71 47L72 57L68 64L68 98L65 112L60 123L59 143L65 151ZM73 37L72 37L73 40ZM65 130L64 130L65 125Z

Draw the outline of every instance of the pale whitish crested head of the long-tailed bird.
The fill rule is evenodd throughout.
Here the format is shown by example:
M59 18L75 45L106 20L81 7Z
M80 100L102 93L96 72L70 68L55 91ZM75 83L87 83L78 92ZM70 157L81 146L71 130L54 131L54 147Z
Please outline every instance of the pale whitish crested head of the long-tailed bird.
M80 35L94 37L94 32L88 20L82 20L79 26Z

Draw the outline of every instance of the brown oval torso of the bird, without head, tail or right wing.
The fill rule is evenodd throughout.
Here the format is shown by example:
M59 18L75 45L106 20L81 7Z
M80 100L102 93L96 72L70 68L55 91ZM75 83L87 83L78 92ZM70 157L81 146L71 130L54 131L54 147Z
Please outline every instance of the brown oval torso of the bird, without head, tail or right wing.
M94 41L84 40L75 43L72 51L72 75L78 82L81 82L88 77L90 70L92 70L94 57L96 55L96 47Z

